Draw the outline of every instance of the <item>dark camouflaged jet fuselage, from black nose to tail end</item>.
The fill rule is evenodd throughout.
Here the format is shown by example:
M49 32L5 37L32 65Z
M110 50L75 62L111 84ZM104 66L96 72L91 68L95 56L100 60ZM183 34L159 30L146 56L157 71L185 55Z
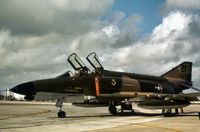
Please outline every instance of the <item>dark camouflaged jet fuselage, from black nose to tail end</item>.
M99 81L99 93L111 94L115 92L153 92L177 94L181 89L170 80L151 75L115 72L103 70L99 75L89 73L80 77L59 77L35 80L20 84L11 91L33 97L38 92L84 94L96 96L95 79Z

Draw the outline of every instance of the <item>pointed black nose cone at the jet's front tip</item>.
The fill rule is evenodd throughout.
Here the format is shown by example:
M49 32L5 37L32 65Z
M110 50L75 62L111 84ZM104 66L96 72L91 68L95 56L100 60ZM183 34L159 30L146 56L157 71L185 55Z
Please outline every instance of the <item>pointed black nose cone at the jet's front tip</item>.
M10 91L22 95L34 95L36 93L36 88L34 87L33 82L27 82L11 88Z

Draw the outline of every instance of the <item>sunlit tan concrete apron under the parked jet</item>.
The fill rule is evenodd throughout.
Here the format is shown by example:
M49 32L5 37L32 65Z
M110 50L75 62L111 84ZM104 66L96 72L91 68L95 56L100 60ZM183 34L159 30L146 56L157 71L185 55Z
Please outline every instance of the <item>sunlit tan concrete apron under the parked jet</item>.
M65 104L67 117L61 119L57 118L55 103L0 101L0 132L200 132L197 116L200 105L187 107L184 114L168 118L162 117L158 110L135 109L135 115L112 116L106 107L82 108Z

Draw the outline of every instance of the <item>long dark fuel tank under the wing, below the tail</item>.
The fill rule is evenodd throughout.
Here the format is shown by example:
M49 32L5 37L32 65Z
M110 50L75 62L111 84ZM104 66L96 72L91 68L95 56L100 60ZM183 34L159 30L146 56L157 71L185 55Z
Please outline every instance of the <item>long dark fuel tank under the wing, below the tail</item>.
M187 100L149 100L138 104L138 107L144 109L175 109L190 105Z

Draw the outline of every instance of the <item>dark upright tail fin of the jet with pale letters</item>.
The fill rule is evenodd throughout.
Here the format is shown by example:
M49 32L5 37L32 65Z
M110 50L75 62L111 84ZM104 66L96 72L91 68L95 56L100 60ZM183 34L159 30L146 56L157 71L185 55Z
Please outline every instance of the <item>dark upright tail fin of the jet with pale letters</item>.
M192 77L192 62L183 62L162 75L166 78L176 78L191 82Z

